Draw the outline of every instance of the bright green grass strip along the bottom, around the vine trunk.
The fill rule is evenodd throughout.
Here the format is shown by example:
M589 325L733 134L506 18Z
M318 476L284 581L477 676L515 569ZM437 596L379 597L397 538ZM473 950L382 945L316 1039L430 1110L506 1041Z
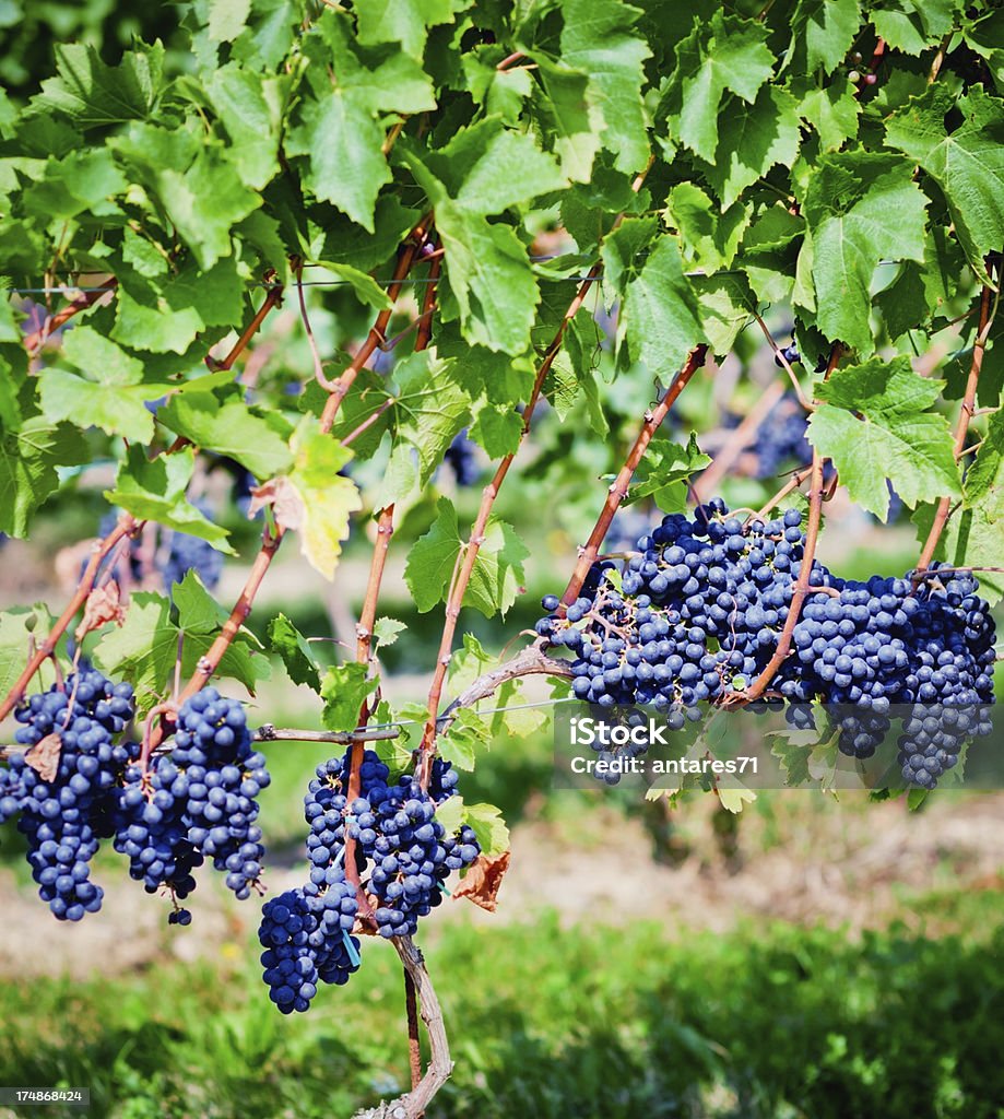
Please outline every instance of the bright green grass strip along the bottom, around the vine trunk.
M433 925L457 1066L430 1119L1000 1119L1002 901L940 896L939 927L972 931L939 940ZM212 965L8 982L0 1018L0 1083L90 1087L94 1117L341 1119L406 1076L383 943L289 1019L235 944Z

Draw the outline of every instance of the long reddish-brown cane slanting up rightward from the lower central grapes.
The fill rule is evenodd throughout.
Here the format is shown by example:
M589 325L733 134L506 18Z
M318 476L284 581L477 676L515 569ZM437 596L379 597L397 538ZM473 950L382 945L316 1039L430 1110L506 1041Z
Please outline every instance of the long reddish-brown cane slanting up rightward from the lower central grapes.
M541 391L544 387L544 379L551 370L551 366L554 365L554 359L561 351L569 323L579 313L579 309L585 301L589 289L599 278L601 270L602 265L599 263L594 264L590 269L589 274L575 292L575 298L569 304L554 338L551 339L551 344L537 368L537 375L534 379L534 387L529 394L529 399L526 402L526 407L523 411L523 432L519 438L519 444L516 448L516 451L512 451L501 460L501 462L499 462L498 468L495 471L495 476L485 487L481 493L481 504L478 508L478 515L475 519L473 527L471 528L470 538L461 549L462 560L460 561L460 566L458 567L456 577L450 586L442 637L439 643L439 652L435 658L435 670L432 676L432 684L429 688L425 731L422 735L422 743L420 745L421 760L419 764L419 779L422 782L423 789L428 788L431 774L432 752L435 746L437 735L437 716L439 714L440 699L442 698L443 683L447 677L447 668L449 667L450 656L453 649L453 636L457 632L457 620L460 617L460 608L463 604L463 595L467 592L468 584L470 583L470 576L475 570L478 552L481 544L485 542L485 533L488 527L488 517L491 514L491 507L495 504L496 497L498 497L501 483L506 480L509 467L513 466L513 461L516 458L519 446L523 445L523 441L526 439L526 434L529 431L533 414L536 410L537 402L541 398Z

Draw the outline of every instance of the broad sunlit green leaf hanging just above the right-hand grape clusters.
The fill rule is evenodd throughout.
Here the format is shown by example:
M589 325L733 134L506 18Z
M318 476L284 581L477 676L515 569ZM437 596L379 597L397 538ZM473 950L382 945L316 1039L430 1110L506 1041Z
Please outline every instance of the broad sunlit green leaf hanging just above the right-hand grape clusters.
M847 366L817 385L825 403L809 420L808 440L833 459L852 500L881 520L889 511L886 479L911 509L961 497L948 421L928 411L941 385L913 373L906 357Z

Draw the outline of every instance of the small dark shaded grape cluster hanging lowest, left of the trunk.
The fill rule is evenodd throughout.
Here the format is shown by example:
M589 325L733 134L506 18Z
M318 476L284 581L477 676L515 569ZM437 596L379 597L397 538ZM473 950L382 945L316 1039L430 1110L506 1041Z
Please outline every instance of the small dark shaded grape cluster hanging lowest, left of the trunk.
M323 890L308 883L265 902L259 941L269 997L283 1014L306 1010L318 982L345 984L359 968L351 937L358 903L345 876Z

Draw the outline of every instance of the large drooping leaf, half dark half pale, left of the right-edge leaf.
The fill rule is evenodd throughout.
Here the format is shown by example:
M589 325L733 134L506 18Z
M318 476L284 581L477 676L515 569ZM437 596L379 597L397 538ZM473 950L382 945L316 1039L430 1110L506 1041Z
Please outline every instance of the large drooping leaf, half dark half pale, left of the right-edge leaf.
M831 340L870 356L871 283L879 262L922 261L927 198L910 163L880 154L823 157L803 199L809 236L799 263L808 265L816 325Z

